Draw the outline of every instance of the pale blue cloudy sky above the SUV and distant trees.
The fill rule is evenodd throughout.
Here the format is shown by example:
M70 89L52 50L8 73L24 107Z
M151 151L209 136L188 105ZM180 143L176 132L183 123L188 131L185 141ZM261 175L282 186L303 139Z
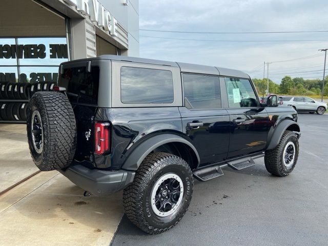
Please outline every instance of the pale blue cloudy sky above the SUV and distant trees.
M328 31L327 13L326 0L139 0L139 28L188 32ZM270 42L253 42L259 40ZM263 62L274 61L269 76L277 83L284 75L322 77L324 56L318 51L322 48L328 48L328 32L197 34L140 30L140 57L234 68L258 78L263 77Z

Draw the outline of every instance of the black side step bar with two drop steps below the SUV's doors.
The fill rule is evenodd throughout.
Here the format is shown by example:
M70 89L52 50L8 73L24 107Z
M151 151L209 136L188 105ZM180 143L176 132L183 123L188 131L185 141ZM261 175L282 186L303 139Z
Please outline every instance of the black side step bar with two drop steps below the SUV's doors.
M245 168L249 168L255 165L254 159L263 157L264 154L256 155L256 156L248 156L243 157L236 160L231 160L226 163L217 164L214 166L196 169L193 171L193 175L199 181L207 181L216 177L220 177L223 175L222 168L230 167L234 170L242 170Z

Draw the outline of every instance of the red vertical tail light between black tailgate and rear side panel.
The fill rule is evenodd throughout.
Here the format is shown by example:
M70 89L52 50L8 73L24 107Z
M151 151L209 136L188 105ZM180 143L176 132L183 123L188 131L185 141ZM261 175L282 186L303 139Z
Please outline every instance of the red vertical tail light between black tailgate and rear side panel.
M101 155L109 150L110 147L110 135L109 135L109 123L108 122L96 122L94 125L95 142L94 153Z

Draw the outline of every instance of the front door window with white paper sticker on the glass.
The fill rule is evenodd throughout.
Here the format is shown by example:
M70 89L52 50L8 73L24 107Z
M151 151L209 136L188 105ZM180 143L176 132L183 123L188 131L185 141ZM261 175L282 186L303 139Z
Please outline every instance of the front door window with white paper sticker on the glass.
M242 78L224 78L230 108L257 107L258 100L251 81Z

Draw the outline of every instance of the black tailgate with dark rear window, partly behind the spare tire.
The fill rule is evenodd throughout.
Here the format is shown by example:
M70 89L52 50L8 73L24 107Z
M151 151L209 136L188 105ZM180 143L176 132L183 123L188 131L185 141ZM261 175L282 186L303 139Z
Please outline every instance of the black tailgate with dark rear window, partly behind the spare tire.
M88 72L88 61L63 65L58 78L58 86L65 87L67 97L72 104L77 130L75 159L91 161L94 151L93 118L97 110L99 66L91 63Z

